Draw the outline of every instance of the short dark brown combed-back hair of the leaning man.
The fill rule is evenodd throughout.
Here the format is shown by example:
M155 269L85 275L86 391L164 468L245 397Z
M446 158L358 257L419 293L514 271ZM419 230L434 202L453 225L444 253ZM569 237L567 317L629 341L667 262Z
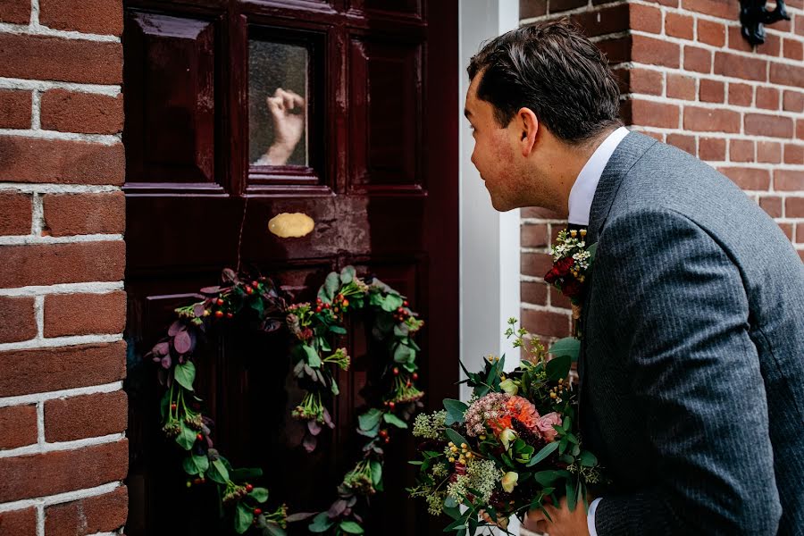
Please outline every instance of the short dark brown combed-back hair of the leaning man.
M557 138L579 144L619 121L619 96L606 56L568 21L514 29L491 39L469 63L477 97L506 127L530 108Z

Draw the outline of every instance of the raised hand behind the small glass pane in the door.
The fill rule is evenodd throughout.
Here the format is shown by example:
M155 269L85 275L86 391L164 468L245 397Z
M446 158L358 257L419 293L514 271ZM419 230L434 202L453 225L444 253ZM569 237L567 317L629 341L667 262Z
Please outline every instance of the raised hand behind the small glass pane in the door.
M277 88L273 96L265 97L273 121L273 143L255 165L283 165L305 131L305 99L293 91Z

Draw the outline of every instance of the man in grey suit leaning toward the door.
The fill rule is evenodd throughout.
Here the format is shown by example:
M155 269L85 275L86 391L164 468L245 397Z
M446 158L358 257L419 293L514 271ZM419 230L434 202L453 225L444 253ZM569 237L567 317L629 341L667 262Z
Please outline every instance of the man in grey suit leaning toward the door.
M605 57L552 22L469 65L472 162L499 211L588 228L582 440L613 485L565 534L804 534L804 265L730 180L629 133Z

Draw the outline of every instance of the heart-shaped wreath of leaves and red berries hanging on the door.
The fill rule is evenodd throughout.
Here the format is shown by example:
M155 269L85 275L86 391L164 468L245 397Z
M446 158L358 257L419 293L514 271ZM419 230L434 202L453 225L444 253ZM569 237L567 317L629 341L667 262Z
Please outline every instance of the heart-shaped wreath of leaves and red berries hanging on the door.
M285 534L287 523L310 518L311 532L364 533L358 510L367 507L368 498L382 490L383 448L393 431L407 428L416 407L421 406L424 393L415 387L420 348L414 335L424 322L398 291L376 278L364 281L352 266L331 272L315 303L289 304L271 279L252 278L228 268L223 270L222 281L221 286L201 289L201 301L176 309L178 318L147 354L160 365L159 379L165 387L162 430L183 453L181 467L187 474L188 488L216 487L238 533L260 530L264 536L278 536ZM293 374L305 391L292 416L306 423L302 444L312 452L317 436L334 427L327 410L328 399L339 394L333 371L335 367L348 370L350 364L346 348L338 343L347 335L346 319L358 314L371 322L373 338L384 348L383 355L372 356L381 367L379 384L373 386L381 394L358 417L356 432L367 440L359 460L339 484L329 510L289 515L282 505L266 511L268 490L251 483L262 470L236 468L214 448L212 421L203 414L202 399L194 387L194 353L218 322L256 325L262 332L287 330L292 339Z

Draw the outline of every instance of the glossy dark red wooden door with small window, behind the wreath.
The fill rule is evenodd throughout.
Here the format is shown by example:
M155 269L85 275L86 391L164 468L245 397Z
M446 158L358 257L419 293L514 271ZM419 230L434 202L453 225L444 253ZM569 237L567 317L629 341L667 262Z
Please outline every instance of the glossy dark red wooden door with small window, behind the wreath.
M347 264L376 275L427 321L428 399L456 396L457 4L127 0L125 9L126 533L222 534L216 501L185 488L161 438L155 370L139 357L172 308L222 267L255 266L295 300ZM273 235L268 222L281 213L309 215L313 232ZM263 467L270 502L291 511L328 507L359 455L353 430L373 364L361 335L350 344L337 426L313 455L289 416L298 393L281 340L229 330L197 356L217 446L234 465ZM428 532L403 490L411 449L391 444L367 533Z

